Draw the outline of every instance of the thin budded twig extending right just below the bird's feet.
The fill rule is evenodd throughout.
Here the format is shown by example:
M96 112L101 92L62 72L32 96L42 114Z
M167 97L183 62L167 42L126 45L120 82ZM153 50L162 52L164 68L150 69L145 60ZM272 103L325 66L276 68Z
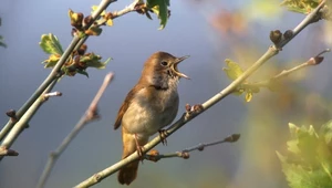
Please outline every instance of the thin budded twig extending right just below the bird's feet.
M158 161L162 158L173 158L173 157L179 157L184 159L188 159L189 153L193 150L204 150L205 147L214 146L214 145L219 145L222 143L235 143L240 138L240 134L232 134L224 139L211 142L211 143L200 143L196 146L193 146L190 148L186 148L181 152L175 152L172 154L159 154L157 150L152 149L148 154L145 155L145 159L152 160L152 161Z

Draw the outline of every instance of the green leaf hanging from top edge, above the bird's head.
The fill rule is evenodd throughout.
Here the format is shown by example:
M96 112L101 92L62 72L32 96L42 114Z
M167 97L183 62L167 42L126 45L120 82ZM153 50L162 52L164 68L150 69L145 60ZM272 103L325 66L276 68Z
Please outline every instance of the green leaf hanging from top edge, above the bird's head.
M163 30L167 23L169 0L146 0L146 7L151 9L160 20L159 30Z

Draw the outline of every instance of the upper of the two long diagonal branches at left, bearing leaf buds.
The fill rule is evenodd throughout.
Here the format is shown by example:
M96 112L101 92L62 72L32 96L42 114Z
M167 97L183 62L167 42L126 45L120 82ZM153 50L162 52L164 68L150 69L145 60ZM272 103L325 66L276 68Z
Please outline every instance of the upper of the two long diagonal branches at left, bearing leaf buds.
M90 28L92 23L100 17L100 14L112 3L116 0L102 0L97 10L92 14L92 21L86 24L85 29ZM37 88L37 91L30 96L30 98L23 104L23 106L17 112L17 119L19 121L25 112L35 103L35 101L41 96L41 94L46 90L46 87L59 77L60 70L62 65L66 62L66 59L71 55L74 49L79 49L83 43L80 41L85 41L89 35L84 35L82 39L79 36L74 36L68 49L64 51L60 60L58 61L56 65L49 74L49 76L43 81L43 83ZM80 45L77 45L80 43ZM33 113L34 114L34 113ZM4 127L0 132L0 142L4 139L6 135L12 129L15 122L9 121Z

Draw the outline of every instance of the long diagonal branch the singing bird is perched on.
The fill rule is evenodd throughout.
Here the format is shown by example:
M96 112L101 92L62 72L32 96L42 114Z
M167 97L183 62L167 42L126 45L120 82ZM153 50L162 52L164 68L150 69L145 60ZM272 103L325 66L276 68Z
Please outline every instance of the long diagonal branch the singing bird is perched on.
M253 74L269 59L277 55L279 53L280 49L282 46L284 46L289 41L291 41L307 25L309 25L310 23L315 22L317 17L318 17L318 12L324 6L324 3L325 3L325 0L323 0L314 11L312 11L310 14L308 14L304 18L304 20L292 30L292 35L290 35L287 39L282 39L278 44L274 44L274 45L270 46L268 49L268 51L256 63L253 63L248 70L246 70L238 79L236 79L232 83L230 83L226 88L224 88L222 91L217 93L215 96L209 98L204 104L194 106L194 111L184 113L183 116L177 122L175 122L169 128L167 128L165 130L165 134L166 134L165 137L168 137L170 134L176 132L183 125L185 125L186 123L194 119L197 115L201 114L203 112L210 108L212 105L215 105L216 103L218 103L219 101L221 101L222 98L225 98L226 96L231 94L232 91L235 91L237 88L237 86L239 86L247 77L249 77L251 74ZM195 108L197 111L195 111ZM155 147L156 145L158 145L160 142L162 142L160 137L156 136L154 139L152 139L149 143L147 143L143 147L144 154L147 150ZM116 163L116 164L114 164L114 165L112 165L112 166L94 174L93 176L91 176L90 178L87 178L84 181L80 182L75 187L91 187L91 186L100 182L104 178L113 175L114 173L116 173L122 167L128 165L129 163L132 163L134 160L137 160L138 158L139 158L139 156L137 155L137 152L135 152L134 154L129 155L128 157L122 159L121 161L118 161L118 163Z

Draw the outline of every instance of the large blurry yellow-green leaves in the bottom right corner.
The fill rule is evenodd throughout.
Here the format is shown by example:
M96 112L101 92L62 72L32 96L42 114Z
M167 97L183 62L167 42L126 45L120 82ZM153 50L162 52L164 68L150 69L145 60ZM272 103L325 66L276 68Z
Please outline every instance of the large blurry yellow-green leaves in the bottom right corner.
M313 126L289 124L288 153L277 155L291 188L326 188L332 185L332 121L317 132Z

